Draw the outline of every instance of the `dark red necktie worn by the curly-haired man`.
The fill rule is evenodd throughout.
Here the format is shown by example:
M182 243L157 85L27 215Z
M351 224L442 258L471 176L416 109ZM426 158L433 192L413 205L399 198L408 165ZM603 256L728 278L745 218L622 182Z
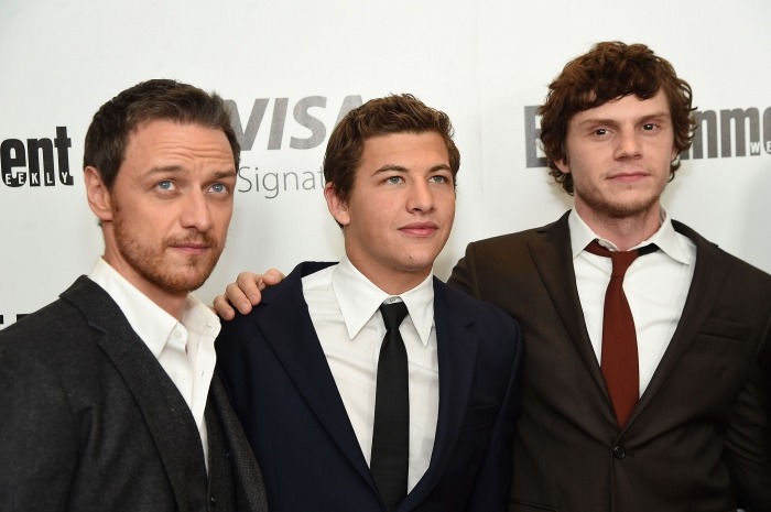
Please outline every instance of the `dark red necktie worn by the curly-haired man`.
M651 244L640 250L610 251L597 240L586 247L593 254L610 258L613 264L608 290L605 292L600 369L621 428L627 424L640 395L637 331L627 295L623 293L623 276L639 255L656 249Z

